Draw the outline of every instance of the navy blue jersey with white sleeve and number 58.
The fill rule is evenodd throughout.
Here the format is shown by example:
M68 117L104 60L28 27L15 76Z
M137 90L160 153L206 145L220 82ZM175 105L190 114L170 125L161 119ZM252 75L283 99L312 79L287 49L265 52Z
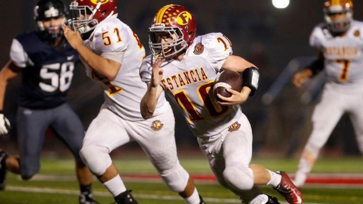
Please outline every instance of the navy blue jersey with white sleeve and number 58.
M23 33L13 40L10 57L24 68L20 106L49 109L67 101L79 56L66 41L54 48L36 32Z

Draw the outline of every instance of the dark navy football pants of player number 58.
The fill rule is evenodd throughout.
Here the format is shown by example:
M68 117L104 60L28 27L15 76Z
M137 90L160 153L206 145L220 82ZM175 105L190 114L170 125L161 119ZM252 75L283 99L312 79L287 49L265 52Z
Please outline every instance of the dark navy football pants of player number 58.
M20 150L20 172L23 179L30 179L40 168L40 152L46 129L50 127L57 137L82 162L79 151L85 136L78 116L68 103L52 109L34 110L18 107L17 132Z

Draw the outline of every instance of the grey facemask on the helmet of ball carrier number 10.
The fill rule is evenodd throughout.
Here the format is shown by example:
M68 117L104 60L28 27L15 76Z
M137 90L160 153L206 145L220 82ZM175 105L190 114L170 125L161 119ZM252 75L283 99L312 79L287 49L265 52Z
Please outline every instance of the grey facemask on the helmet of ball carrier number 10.
M166 27L165 24L153 24L148 31L149 47L155 58L162 57L171 59L181 53L187 43L184 40L184 34L178 26ZM162 35L170 36L173 40L170 42L161 42ZM173 36L176 36L173 37Z

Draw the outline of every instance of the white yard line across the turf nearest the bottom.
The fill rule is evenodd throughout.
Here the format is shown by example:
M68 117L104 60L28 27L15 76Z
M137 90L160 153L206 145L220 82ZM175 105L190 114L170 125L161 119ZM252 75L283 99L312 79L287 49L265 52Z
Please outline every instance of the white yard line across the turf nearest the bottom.
M65 195L79 195L79 191L66 190L66 189L54 189L54 188L30 188L30 187L17 187L17 186L7 186L6 191L19 191L19 192L31 192L31 193L56 193ZM109 192L97 192L94 191L95 196L107 196L111 197ZM167 195L153 195L153 194L138 194L132 193L136 198L143 199L156 199L156 200L183 200L180 196L167 196ZM228 199L228 198L211 198L203 197L203 200L209 203L240 203L238 199ZM286 202L281 202L281 204L287 204ZM323 204L323 203L305 203L305 204Z

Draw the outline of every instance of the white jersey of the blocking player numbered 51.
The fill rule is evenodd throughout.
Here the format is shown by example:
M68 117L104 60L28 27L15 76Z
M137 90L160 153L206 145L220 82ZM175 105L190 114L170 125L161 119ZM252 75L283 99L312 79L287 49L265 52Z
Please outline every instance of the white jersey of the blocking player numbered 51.
M97 81L105 93L107 109L129 121L143 120L140 113L140 101L146 93L147 86L139 76L139 68L145 57L145 49L131 28L117 18L103 20L94 29L90 38L84 44L95 54L105 58L113 53L124 53L121 68L113 81L108 81L86 66L87 76ZM118 61L111 58L111 60ZM163 112L162 95L158 101L155 116Z

